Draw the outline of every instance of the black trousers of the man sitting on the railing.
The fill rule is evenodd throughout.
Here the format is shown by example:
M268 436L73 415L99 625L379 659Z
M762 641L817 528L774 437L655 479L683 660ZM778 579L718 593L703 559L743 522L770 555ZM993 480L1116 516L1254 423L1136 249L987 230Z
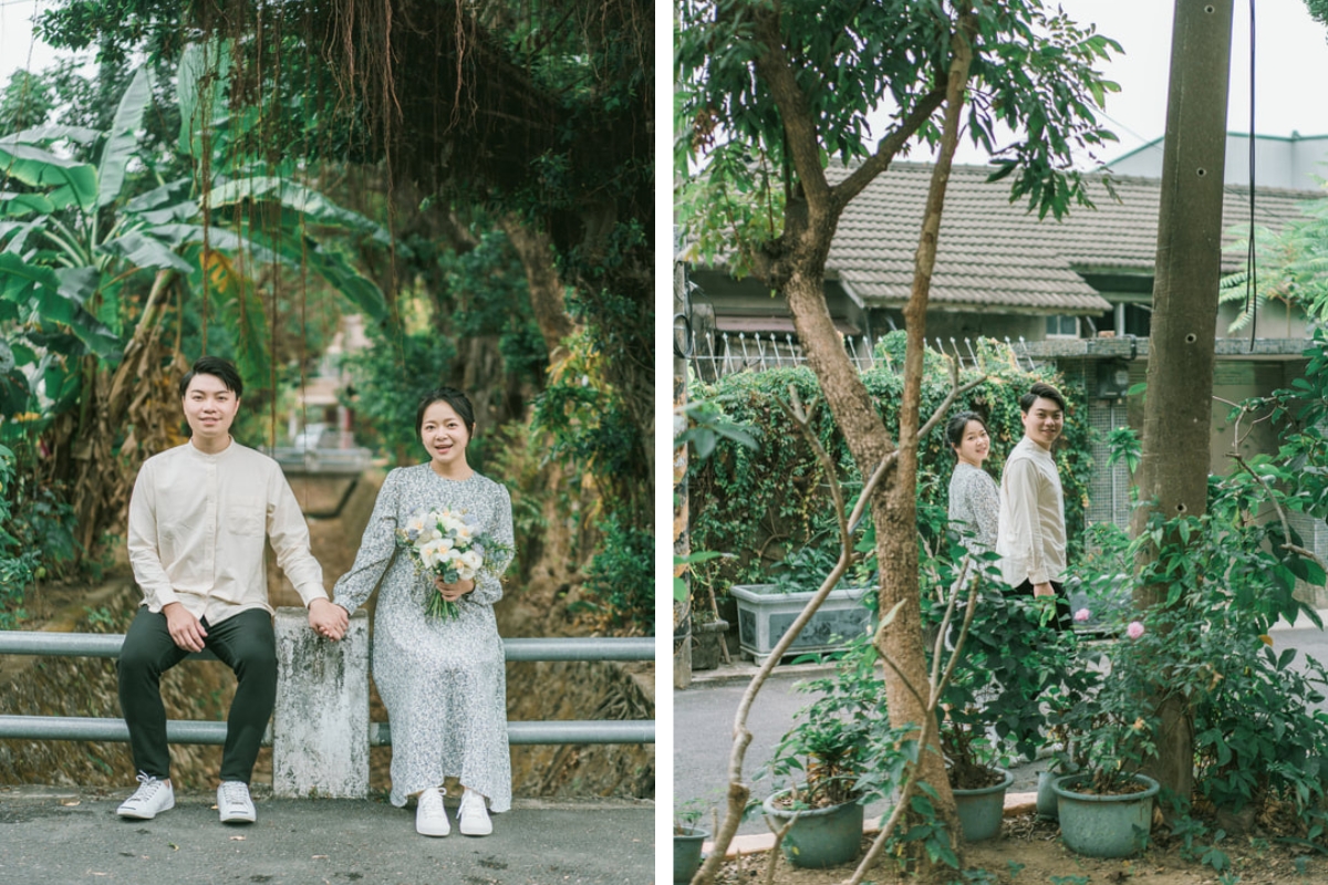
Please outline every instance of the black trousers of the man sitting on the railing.
M276 637L272 616L263 609L246 609L212 625L206 620L206 647L234 673L239 685L226 718L226 746L222 748L222 780L248 783L254 775L259 744L276 703ZM138 609L120 653L120 709L129 724L129 747L134 767L162 780L170 778L170 750L166 746L166 707L162 703L161 675L189 654L175 645L166 629L166 616Z

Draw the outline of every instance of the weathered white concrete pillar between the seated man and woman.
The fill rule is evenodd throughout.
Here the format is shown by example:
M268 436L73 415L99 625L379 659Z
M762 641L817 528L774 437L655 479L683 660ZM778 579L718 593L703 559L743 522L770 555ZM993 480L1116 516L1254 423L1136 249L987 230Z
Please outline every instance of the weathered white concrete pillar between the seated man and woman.
M369 617L332 642L303 608L276 609L272 795L364 799L369 793Z

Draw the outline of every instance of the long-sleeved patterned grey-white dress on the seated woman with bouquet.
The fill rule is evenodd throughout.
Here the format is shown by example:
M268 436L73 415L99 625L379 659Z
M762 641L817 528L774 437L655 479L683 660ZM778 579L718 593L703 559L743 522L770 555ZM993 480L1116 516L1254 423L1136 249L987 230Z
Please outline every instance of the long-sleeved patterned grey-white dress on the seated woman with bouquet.
M438 476L428 463L388 474L364 529L355 565L333 588L355 612L381 585L373 624L373 681L392 724L392 804L442 784L445 776L489 797L490 811L511 808L507 685L494 602L511 553L475 579L458 601L459 617L430 617L437 593L414 560L397 551L396 529L416 512L450 508L475 517L477 533L513 544L511 498L491 479ZM491 569L491 573L490 573ZM381 584L380 584L381 580Z

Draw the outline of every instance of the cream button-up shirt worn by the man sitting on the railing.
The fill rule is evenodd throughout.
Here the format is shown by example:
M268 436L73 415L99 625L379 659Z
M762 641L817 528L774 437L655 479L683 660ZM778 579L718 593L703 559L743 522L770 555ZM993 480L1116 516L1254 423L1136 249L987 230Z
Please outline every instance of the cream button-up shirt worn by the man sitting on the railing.
M149 610L179 602L208 624L246 609L272 612L267 536L304 605L328 598L304 515L275 460L232 439L215 455L185 443L139 468L129 500L129 561Z

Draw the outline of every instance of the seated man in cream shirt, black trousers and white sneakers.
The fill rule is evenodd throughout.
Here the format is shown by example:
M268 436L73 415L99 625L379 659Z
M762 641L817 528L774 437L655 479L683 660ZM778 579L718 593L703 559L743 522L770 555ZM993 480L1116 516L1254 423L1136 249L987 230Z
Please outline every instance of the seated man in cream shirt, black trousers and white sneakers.
M328 601L282 468L231 438L242 393L231 362L199 358L179 383L190 441L143 462L129 502L129 560L143 602L117 666L139 787L118 808L121 817L150 820L175 805L161 674L206 647L238 679L216 807L226 823L254 821L248 782L276 701L266 536L309 609L309 626L323 636L345 629L345 610Z

